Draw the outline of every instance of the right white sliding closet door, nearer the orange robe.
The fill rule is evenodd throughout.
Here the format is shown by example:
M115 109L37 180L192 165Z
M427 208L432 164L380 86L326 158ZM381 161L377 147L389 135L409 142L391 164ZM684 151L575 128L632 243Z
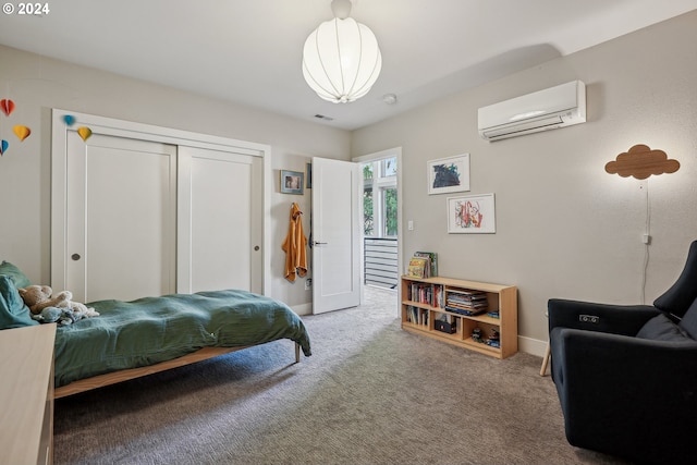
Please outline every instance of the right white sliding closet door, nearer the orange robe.
M179 147L178 292L262 292L264 159Z

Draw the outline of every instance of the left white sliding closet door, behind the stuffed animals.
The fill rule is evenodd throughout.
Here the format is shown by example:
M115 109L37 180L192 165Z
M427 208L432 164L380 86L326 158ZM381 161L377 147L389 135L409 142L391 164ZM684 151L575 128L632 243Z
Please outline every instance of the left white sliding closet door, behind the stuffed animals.
M174 292L176 147L69 132L66 154L65 289L78 302Z

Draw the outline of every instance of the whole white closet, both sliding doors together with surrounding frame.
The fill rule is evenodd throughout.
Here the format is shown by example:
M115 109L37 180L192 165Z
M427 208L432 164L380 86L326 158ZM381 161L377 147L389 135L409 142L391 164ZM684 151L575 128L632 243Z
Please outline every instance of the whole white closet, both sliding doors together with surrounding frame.
M64 110L52 120L54 290L82 302L267 291L270 147Z

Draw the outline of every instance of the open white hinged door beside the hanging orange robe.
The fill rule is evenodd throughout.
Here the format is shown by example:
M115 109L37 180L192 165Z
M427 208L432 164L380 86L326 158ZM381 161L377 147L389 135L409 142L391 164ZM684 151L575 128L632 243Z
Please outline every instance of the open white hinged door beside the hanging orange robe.
M360 304L360 168L313 158L313 313Z

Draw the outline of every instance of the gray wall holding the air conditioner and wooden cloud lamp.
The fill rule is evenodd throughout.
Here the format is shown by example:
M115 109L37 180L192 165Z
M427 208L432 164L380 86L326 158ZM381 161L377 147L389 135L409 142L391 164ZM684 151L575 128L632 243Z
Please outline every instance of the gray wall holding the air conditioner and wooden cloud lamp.
M697 11L354 132L354 157L403 148L405 258L436 250L442 276L519 286L523 348L540 352L548 298L641 301L648 189L652 302L697 238L695 44ZM587 85L587 123L497 143L478 137L479 107L573 79ZM636 144L664 150L680 171L648 183L604 172ZM427 161L463 152L469 194L496 194L496 234L448 234L447 195L427 195Z

